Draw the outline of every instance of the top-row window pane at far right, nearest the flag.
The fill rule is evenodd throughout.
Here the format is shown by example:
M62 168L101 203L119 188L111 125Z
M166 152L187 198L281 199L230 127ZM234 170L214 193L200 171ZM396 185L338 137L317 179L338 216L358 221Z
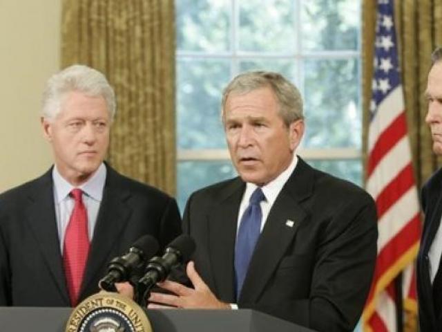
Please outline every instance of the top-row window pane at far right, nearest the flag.
M305 50L357 50L361 1L303 0L302 48Z

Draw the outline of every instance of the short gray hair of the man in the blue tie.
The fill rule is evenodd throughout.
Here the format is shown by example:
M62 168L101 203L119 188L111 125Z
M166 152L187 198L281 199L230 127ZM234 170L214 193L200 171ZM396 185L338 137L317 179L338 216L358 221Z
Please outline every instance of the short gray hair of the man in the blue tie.
M250 71L236 76L222 92L222 121L225 121L224 108L229 95L232 93L241 95L265 87L269 87L275 94L280 106L279 115L287 127L291 122L304 118L302 97L294 84L280 73Z

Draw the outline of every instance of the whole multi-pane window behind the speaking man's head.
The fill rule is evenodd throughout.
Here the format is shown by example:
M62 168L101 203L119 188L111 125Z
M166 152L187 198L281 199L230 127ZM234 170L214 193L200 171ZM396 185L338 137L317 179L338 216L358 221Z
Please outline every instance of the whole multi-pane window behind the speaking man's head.
M361 1L177 0L177 199L236 176L221 93L247 70L278 71L300 89L298 154L361 185Z

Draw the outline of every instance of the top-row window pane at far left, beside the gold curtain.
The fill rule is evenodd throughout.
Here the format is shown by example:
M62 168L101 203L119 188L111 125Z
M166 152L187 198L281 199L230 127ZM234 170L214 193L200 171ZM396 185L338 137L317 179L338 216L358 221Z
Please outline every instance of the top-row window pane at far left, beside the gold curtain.
M230 0L177 0L177 49L230 49Z

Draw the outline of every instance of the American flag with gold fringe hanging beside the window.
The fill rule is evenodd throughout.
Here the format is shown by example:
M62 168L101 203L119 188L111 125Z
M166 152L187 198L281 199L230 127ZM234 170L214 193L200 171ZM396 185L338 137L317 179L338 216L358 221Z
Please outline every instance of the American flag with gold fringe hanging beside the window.
M403 309L411 314L406 317L414 317L416 323L414 259L421 232L393 0L378 0L375 40L366 189L376 201L379 237L376 270L363 312L363 329L391 332L404 329L398 326L398 301L403 301ZM398 294L394 280L401 273L402 294Z

